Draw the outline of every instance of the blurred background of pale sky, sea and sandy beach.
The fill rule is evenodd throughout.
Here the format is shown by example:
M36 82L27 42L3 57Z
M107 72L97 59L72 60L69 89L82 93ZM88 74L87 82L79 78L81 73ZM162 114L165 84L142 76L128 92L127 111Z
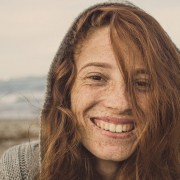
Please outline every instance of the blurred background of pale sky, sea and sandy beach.
M74 18L101 0L0 0L0 155L38 138L46 75ZM180 47L179 0L131 0Z

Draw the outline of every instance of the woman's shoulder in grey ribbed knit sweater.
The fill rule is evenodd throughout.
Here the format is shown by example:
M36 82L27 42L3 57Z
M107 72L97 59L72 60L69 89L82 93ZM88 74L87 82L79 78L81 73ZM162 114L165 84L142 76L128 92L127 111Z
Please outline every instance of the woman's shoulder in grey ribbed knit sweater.
M39 142L27 142L8 149L0 159L2 179L33 179L39 167Z

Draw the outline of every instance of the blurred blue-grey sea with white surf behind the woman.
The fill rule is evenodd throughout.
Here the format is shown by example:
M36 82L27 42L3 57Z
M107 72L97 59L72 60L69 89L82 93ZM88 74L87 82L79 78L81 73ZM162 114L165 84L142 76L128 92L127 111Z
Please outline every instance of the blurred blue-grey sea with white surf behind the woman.
M37 118L45 87L45 76L0 81L0 119Z

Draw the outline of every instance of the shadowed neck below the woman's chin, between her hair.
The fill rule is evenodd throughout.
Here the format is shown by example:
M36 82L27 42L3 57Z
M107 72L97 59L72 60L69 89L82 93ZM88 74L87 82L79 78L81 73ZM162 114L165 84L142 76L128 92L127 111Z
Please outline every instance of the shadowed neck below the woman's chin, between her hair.
M118 168L118 162L98 159L96 168L104 180L112 180Z

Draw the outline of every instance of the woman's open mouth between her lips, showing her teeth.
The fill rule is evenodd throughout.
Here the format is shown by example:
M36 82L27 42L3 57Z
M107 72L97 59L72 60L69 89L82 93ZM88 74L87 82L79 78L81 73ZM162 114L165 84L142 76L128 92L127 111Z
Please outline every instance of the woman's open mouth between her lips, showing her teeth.
M102 120L102 119L91 119L91 121L100 129L109 131L112 133L126 133L131 132L135 128L134 122L110 122L110 120Z

